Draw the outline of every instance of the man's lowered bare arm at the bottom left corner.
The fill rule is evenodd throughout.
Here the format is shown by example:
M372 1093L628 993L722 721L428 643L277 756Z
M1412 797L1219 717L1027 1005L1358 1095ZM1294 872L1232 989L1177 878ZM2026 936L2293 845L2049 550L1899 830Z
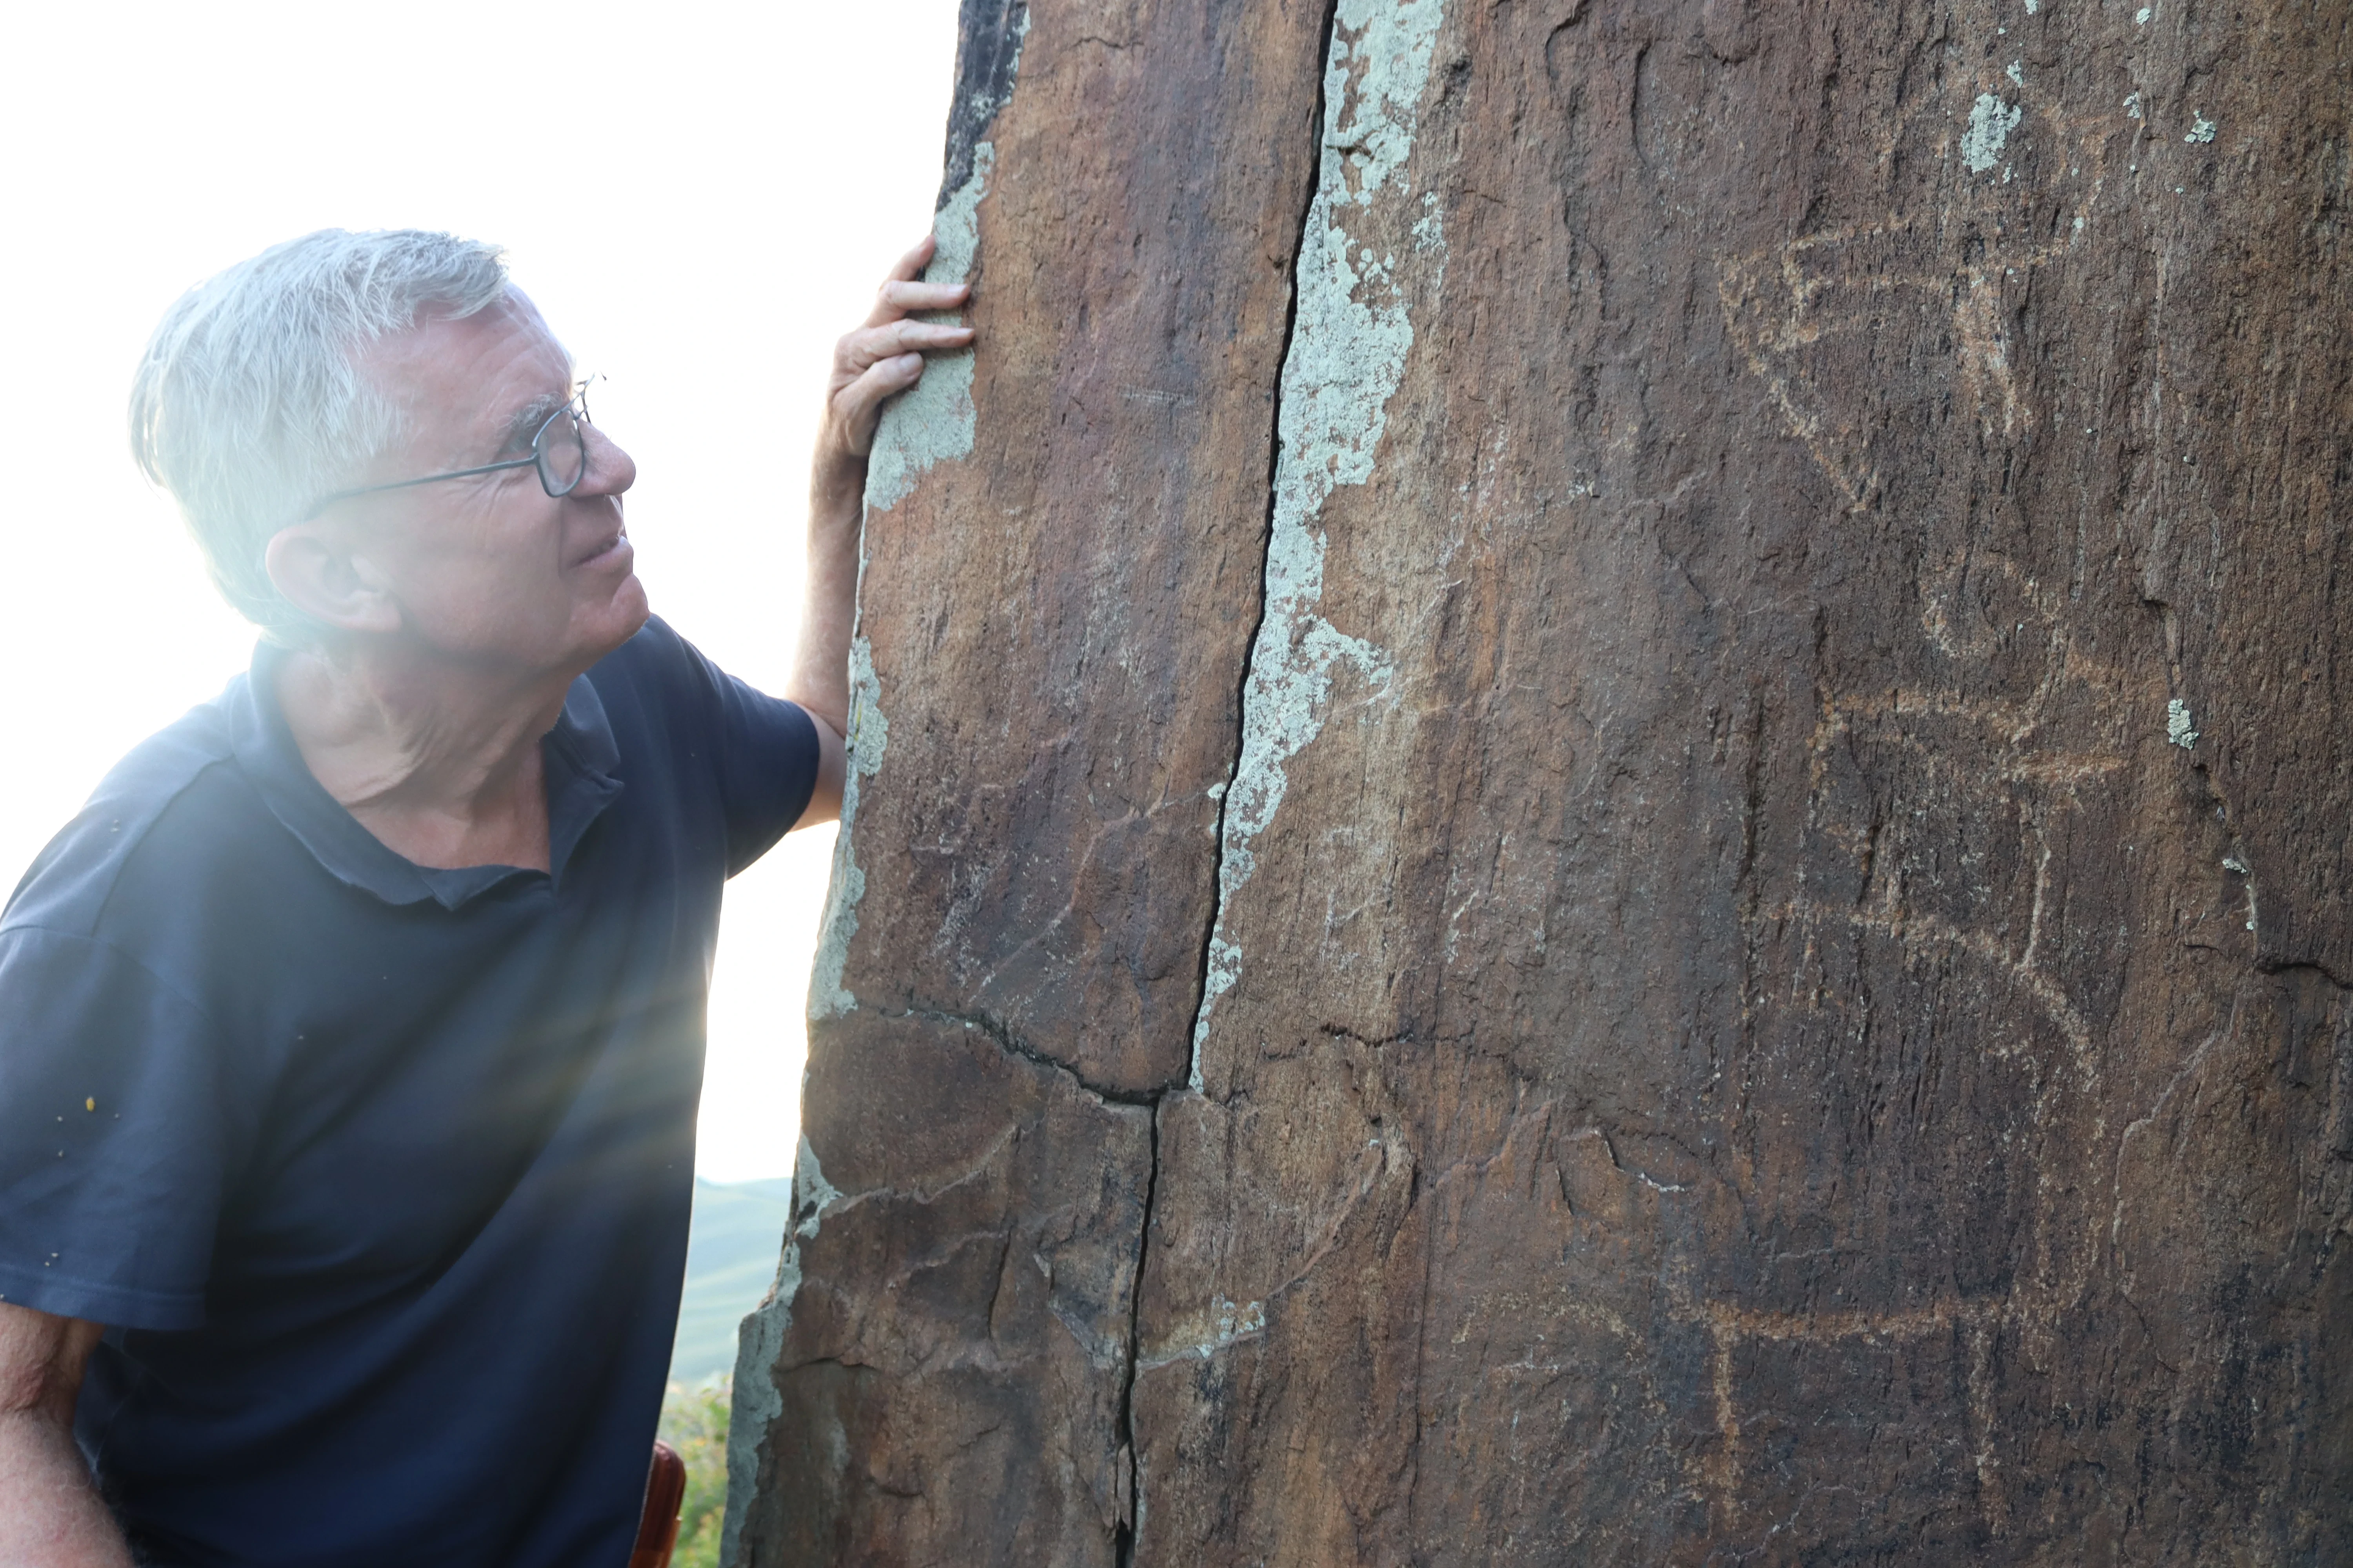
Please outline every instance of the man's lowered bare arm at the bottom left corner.
M106 1328L0 1302L0 1563L129 1568L73 1446L73 1401Z

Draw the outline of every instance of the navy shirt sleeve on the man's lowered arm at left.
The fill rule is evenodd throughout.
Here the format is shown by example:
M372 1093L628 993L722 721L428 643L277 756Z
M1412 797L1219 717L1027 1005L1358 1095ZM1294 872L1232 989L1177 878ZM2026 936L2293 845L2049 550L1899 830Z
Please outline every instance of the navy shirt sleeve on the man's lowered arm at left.
M0 1300L195 1328L235 1133L221 1041L104 940L0 931Z

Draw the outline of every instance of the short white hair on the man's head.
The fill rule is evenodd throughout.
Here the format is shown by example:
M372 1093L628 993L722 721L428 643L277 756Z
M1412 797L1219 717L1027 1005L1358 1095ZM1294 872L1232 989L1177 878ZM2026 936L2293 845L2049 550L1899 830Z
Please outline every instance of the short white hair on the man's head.
M179 501L221 595L273 639L304 639L308 621L261 564L271 536L353 484L402 428L355 369L360 348L504 294L496 244L322 228L165 310L132 378L132 454Z

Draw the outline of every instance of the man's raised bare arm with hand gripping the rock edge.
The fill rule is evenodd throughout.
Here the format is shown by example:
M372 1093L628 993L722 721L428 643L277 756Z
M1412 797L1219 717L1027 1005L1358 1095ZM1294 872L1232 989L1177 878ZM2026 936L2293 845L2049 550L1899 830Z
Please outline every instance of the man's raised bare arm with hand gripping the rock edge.
M809 475L809 588L800 611L800 646L784 696L816 719L821 748L816 792L795 827L842 813L842 745L849 733L849 630L859 597L859 524L866 508L866 454L882 404L922 378L922 355L972 343L969 327L908 320L915 310L955 310L965 284L915 282L932 259L925 240L892 268L866 324L833 348L826 423L816 433Z

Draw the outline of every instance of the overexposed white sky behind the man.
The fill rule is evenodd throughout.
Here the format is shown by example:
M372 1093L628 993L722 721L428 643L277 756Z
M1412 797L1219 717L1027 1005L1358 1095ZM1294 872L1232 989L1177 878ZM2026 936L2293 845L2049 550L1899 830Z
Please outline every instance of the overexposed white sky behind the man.
M932 221L955 0L26 7L0 56L0 877L245 668L129 371L188 284L313 228L508 247L638 458L666 616L779 689L833 339ZM831 830L727 893L699 1168L786 1175Z

